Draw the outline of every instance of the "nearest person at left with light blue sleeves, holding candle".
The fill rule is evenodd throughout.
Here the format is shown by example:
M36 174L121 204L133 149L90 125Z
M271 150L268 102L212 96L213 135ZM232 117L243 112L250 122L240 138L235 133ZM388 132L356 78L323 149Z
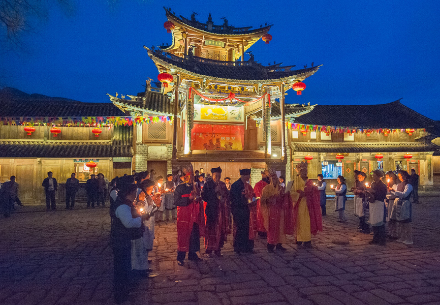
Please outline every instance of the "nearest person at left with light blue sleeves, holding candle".
M142 219L133 205L136 185L120 185L112 217L110 240L113 249L113 293L116 304L128 300L131 282L131 241L142 237Z

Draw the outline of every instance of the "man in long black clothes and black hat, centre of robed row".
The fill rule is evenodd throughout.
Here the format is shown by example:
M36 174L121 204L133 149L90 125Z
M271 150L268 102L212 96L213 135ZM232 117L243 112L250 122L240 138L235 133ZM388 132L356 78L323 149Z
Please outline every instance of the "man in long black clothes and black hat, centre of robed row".
M255 204L254 190L249 185L250 169L240 169L240 179L231 186L231 211L234 219L234 251L237 254L253 253L254 240L249 238L250 208Z

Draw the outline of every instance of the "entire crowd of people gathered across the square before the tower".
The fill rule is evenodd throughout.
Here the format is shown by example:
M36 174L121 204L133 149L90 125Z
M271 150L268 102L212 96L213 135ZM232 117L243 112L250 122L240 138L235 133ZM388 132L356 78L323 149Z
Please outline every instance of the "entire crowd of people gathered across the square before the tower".
M323 230L322 217L327 215L327 182L322 174L318 181L308 177L308 163L296 165L297 175L285 185L276 170L261 171L261 180L250 185L250 169L240 170L240 179L222 181L222 168L193 170L182 166L176 175L165 178L151 170L116 177L108 181L103 174L90 175L86 181L87 208L105 206L110 201L111 245L114 254L114 296L117 303L128 298L131 283L138 277L148 277L152 271L148 254L153 249L154 226L157 221L176 220L177 256L179 265L185 259L201 261L200 238L204 238L206 257L221 257L228 238L233 239L237 255L252 254L254 240L266 239L269 253L286 252L283 244L293 235L297 247L311 248L311 238ZM367 176L355 170L355 184L348 189L343 176L330 186L335 194L338 222L347 222L345 202L347 192L354 193L354 215L359 230L373 232L371 244L385 245L396 240L406 245L412 239L412 202L418 203L418 175L406 171L374 170ZM48 210L56 209L58 189L52 172L47 173L42 186ZM368 181L371 181L369 184ZM75 206L79 180L75 173L66 181L66 209ZM0 196L12 206L18 199L15 177L5 182ZM386 228L387 226L387 228Z

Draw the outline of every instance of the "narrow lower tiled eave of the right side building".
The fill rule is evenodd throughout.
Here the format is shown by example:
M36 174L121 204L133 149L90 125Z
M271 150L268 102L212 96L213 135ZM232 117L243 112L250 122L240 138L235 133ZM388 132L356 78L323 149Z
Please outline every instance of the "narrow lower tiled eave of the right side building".
M440 146L432 143L292 143L294 151L306 153L398 153L401 151L413 153L417 151L435 151Z

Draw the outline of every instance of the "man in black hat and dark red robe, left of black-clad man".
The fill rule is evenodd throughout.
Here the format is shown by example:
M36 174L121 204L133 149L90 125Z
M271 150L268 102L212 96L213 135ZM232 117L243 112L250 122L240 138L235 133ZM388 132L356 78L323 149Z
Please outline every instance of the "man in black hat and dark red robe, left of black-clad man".
M221 181L222 169L211 168L212 177L208 178L201 195L205 209L205 253L211 257L222 256L221 248L231 233L231 201L225 182Z

